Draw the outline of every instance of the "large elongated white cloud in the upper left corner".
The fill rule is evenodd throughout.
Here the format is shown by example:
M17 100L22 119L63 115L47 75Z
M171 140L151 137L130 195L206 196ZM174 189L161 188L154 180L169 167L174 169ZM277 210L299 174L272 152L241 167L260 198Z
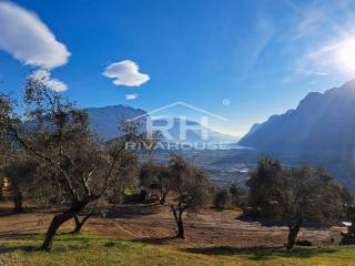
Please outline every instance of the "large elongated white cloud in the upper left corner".
M33 12L0 1L0 50L19 61L53 69L68 62L70 52Z

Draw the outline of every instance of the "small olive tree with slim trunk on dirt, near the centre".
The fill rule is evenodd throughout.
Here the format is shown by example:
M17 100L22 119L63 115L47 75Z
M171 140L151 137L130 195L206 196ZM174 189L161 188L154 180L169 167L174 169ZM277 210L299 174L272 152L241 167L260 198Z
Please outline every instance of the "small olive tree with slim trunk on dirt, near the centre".
M172 155L169 171L171 190L176 194L170 204L178 226L176 237L184 238L183 214L196 213L209 203L211 185L207 175L182 156Z

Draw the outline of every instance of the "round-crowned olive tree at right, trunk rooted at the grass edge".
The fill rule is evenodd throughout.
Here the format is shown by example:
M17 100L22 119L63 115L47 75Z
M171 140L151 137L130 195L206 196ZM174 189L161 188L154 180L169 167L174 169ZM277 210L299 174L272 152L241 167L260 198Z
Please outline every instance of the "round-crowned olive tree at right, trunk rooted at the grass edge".
M292 249L304 222L331 225L342 216L342 187L322 168L303 166L284 170L271 197L276 217L288 227L287 249Z

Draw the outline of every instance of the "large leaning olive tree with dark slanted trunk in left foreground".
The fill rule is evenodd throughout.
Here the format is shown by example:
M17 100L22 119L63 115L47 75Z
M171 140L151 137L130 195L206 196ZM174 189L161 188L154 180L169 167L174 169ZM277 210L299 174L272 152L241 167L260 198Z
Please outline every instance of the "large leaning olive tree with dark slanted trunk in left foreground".
M88 114L49 89L44 78L28 78L23 105L26 113L19 115L14 102L1 95L0 129L19 149L41 161L42 168L51 173L53 187L68 201L47 231L42 249L49 250L60 226L105 194L125 143L141 136L124 124L125 134L106 152L92 137Z

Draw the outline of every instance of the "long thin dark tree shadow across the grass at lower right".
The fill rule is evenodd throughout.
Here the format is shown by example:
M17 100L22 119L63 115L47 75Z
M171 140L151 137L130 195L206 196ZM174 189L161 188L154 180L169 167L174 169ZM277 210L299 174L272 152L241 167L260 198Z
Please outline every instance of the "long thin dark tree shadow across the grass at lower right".
M336 249L329 247L312 247L303 248L296 247L291 252L285 248L271 248L271 247L253 247L253 248L233 248L230 246L216 246L216 247L201 247L201 248L184 248L184 252L204 255L217 255L217 256L233 256L242 255L247 256L251 260L266 260L275 257L293 257L293 258L310 258L322 254L332 254Z

